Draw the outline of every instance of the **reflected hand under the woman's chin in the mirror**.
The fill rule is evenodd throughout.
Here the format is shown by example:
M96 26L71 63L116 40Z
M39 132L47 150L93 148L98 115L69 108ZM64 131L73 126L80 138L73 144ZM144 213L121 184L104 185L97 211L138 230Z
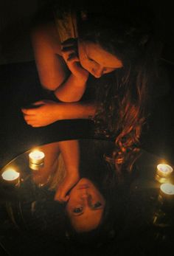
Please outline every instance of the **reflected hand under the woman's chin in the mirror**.
M63 182L58 186L58 189L55 193L55 201L60 201L60 203L66 202L69 200L69 190L74 187L75 184L79 181L80 177L78 172L76 173L67 173Z

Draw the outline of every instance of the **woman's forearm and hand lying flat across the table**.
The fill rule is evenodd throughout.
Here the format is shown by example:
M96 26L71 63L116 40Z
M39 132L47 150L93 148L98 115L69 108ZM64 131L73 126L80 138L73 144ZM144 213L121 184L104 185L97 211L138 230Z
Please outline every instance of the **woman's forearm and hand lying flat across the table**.
M58 120L88 119L94 117L94 103L57 103L52 100L41 100L31 108L22 108L24 120L32 127L50 125Z

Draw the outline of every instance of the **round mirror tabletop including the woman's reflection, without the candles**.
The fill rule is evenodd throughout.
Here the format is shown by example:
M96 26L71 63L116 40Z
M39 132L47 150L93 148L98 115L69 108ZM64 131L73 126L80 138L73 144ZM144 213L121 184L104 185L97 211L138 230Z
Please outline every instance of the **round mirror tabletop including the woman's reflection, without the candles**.
M44 158L35 156L32 168L35 149ZM0 242L10 255L125 255L128 248L139 252L139 245L160 246L164 236L173 244L173 195L159 201L156 181L161 159L142 151L132 173L120 177L109 161L113 150L114 142L105 140L53 142L1 170L18 174L17 186L0 176Z

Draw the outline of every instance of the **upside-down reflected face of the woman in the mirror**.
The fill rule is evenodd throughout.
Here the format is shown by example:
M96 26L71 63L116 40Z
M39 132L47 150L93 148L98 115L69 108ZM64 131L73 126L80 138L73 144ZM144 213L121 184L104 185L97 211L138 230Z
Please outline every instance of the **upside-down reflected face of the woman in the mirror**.
M97 187L88 180L80 179L69 194L66 212L77 232L88 232L100 224L105 199Z

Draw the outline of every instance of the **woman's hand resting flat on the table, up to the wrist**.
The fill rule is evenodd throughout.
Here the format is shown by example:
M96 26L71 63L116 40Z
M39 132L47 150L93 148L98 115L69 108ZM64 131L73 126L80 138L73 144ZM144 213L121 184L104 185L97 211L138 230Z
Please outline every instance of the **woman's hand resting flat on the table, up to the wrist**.
M28 125L31 125L32 127L41 127L59 120L58 103L56 103L55 101L41 100L33 103L32 105L33 108L21 109L24 114L24 120L27 122Z

